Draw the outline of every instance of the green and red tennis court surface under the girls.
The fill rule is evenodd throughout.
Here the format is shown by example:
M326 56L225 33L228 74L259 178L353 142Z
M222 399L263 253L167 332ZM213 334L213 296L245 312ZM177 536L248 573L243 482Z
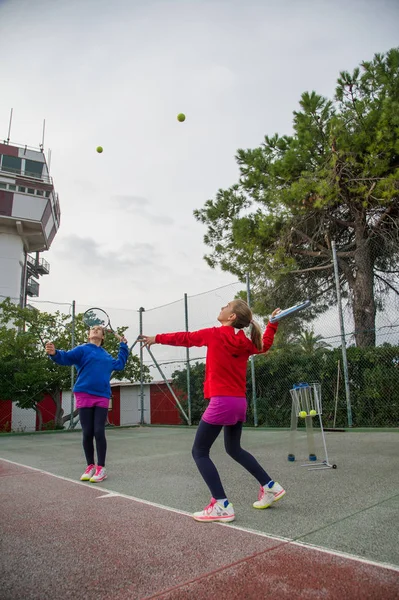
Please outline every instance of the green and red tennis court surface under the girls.
M263 511L219 439L212 457L236 511L226 525L189 515L209 501L195 430L107 430L97 485L77 481L79 432L2 436L1 598L398 598L398 433L327 433L338 468L314 472L287 461L288 432L245 430L287 490Z

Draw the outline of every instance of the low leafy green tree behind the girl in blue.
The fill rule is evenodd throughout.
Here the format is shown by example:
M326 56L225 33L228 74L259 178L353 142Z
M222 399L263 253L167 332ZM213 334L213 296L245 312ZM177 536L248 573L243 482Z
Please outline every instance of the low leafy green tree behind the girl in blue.
M118 329L123 334L126 328ZM71 369L60 367L49 360L44 352L45 341L53 341L60 350L71 348L72 323L69 315L42 313L32 308L20 308L10 300L0 304L0 399L11 399L22 408L33 408L39 418L38 403L44 395L51 396L55 407L55 426L63 427L71 415L64 415L61 392L71 388ZM75 341L87 341L87 327L83 315L75 319ZM119 342L107 335L104 348L112 355L118 352ZM150 379L144 367L146 381ZM123 371L113 374L116 380L137 381L140 378L140 363L137 356L130 354ZM75 411L74 416L77 415Z

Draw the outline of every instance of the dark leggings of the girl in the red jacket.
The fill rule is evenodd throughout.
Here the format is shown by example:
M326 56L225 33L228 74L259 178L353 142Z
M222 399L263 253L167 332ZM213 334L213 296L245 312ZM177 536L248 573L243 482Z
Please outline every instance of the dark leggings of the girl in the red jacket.
M225 491L220 481L219 473L209 457L212 444L218 437L223 425L210 425L201 419L195 436L192 449L193 458L205 483L216 500L226 498ZM242 423L224 425L224 446L231 458L251 473L260 483L266 485L271 477L260 466L256 458L241 448Z

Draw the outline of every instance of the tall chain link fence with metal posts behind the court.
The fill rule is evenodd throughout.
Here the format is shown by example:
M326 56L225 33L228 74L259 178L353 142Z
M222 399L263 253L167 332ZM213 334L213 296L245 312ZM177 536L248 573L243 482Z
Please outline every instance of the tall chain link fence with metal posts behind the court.
M125 328L125 335L132 344L141 326L144 334L155 335L195 331L217 325L220 308L238 293L246 292L243 283L234 282L195 296L184 295L175 302L154 308L101 308L109 314L114 329ZM59 312L66 315L66 328L73 324L79 314L91 308L75 302L43 300L32 300L30 305L40 313L55 315ZM248 426L289 427L290 389L299 382L321 384L323 423L326 428L399 426L399 296L392 291L385 299L384 310L377 313L376 347L355 346L355 330L348 303L343 304L341 315L342 328L339 307L336 306L311 322L300 321L296 328L291 328L288 336L284 328L289 319L281 322L271 350L266 355L253 357L252 365L251 361L248 365ZM265 326L262 319L258 321ZM74 340L74 345L86 341L80 338ZM172 380L172 387L178 390L182 406L190 414L191 423L197 424L206 406L202 395L206 349L187 350L157 345L152 352L155 361L146 350L142 353L143 364L151 379L165 377ZM138 345L133 353L140 355ZM7 376L2 371L0 364L0 379ZM70 381L73 385L72 370ZM62 392L64 413L71 412L73 408L70 388ZM43 397L46 397L45 389ZM0 401L0 429L16 432L38 429L37 411L27 410L21 402L12 403L12 400ZM51 399L48 402L51 404ZM42 411L46 410L46 406L46 402L42 403ZM71 422L64 426L70 425ZM51 423L47 423L46 427L51 428Z

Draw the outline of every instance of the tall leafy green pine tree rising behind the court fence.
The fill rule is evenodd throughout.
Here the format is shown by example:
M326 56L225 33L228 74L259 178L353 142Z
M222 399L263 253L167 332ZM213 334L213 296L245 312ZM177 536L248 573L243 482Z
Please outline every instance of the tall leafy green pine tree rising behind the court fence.
M333 100L303 93L292 135L238 150L239 182L194 211L205 260L249 272L259 314L309 297L309 318L336 303L335 242L356 345L375 345L376 311L399 293L398 132L397 48L342 72Z

